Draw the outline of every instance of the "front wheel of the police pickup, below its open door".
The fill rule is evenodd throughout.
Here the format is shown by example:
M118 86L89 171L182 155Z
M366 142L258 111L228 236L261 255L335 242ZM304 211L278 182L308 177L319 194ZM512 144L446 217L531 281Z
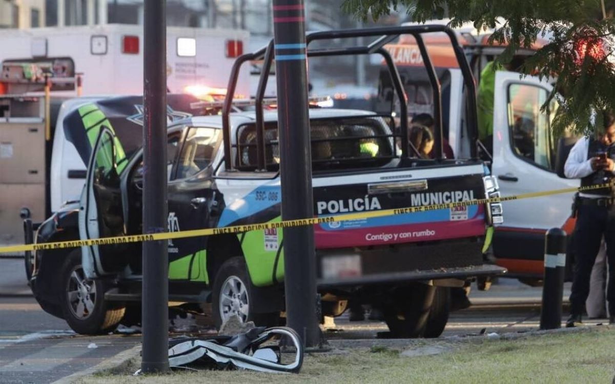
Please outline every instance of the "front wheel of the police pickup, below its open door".
M60 276L60 306L71 329L82 335L106 334L116 329L124 316L124 306L104 300L108 283L85 279L81 249L75 249L68 255ZM78 279L81 279L81 284Z

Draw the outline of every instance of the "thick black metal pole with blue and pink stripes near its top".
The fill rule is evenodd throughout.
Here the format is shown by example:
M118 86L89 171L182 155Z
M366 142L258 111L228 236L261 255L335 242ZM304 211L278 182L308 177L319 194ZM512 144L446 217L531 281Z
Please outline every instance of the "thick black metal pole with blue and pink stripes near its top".
M282 220L314 217L303 0L273 1ZM320 343L314 228L284 228L287 324L304 346Z

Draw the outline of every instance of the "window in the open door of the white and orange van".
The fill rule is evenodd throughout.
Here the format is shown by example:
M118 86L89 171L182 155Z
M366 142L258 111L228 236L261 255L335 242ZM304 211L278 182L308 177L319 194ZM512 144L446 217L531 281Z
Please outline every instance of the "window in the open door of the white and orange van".
M528 84L508 88L508 121L512 151L522 159L545 169L552 164L549 111L541 111L547 100L546 89Z

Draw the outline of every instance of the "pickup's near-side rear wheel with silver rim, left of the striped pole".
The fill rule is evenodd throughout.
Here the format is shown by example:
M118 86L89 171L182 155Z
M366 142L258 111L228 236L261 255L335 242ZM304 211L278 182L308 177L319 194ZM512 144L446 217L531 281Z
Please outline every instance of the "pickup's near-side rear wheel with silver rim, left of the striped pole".
M221 307L222 290L225 291L230 286L231 282L239 282L240 286L237 290L244 292L237 296L237 298L229 297L226 295L226 301L231 301L236 305L241 303L241 308L231 308L224 305ZM224 287L223 287L224 286ZM241 256L232 257L226 260L221 266L216 277L213 281L212 291L212 316L216 329L220 329L222 323L228 316L234 313L238 313L239 318L243 322L253 321L256 326L272 327L279 325L279 313L254 313L250 303L255 302L254 289L252 287L252 281L248 276L248 269L245 265L245 260ZM232 300L231 300L232 299ZM223 298L223 300L225 300ZM247 309L245 309L247 308Z

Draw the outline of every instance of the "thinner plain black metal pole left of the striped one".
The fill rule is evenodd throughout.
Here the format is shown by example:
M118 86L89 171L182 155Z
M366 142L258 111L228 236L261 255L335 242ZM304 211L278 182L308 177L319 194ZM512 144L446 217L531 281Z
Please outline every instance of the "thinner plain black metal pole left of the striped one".
M145 2L143 28L143 233L167 230L166 2ZM143 243L141 370L169 370L167 241Z

